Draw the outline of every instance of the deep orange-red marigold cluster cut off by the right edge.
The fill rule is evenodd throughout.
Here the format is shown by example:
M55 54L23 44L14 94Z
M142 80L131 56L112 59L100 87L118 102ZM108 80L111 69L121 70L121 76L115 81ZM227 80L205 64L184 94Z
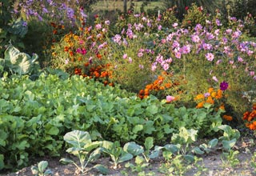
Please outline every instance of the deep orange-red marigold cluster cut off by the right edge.
M250 130L256 130L256 103L253 105L252 111L246 111L243 114L242 120L246 122L246 127Z

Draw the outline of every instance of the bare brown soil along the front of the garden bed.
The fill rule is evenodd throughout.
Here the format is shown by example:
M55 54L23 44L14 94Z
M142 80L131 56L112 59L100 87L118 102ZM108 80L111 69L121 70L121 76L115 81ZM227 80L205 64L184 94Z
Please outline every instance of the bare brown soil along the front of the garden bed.
M214 152L210 154L204 154L202 155L202 162L198 162L198 165L192 166L192 169L189 170L185 175L195 175L198 173L198 166L202 166L202 168L205 168L206 170L201 171L201 174L203 176L221 176L221 175L232 175L232 176L256 176L256 168L253 168L250 166L250 162L252 162L252 157L254 152L256 152L256 143L255 138L242 138L241 141L237 143L237 145L234 147L234 150L238 150L238 160L239 164L238 166L229 166L228 162L222 161L222 150L215 150ZM38 158L37 161L34 161L34 165L36 163L45 160L49 163L48 168L53 171L54 176L92 176L92 175L102 175L98 173L97 170L90 170L86 174L76 174L76 168L74 165L63 165L59 162L59 158L50 158L50 157L44 157L44 158ZM132 161L134 162L134 161ZM255 158L254 158L255 162ZM124 165L125 163L122 163L118 166L117 169L114 170L113 165L111 164L110 158L100 158L97 160L97 163L90 163L90 166L94 166L95 164L102 164L103 166L106 166L110 173L107 174L108 176L122 176L122 175L138 175L138 172L131 172L130 169L127 169ZM163 158L156 158L152 162L150 162L150 165L146 168L145 173L151 173L146 175L155 175L155 176L166 176L166 175L177 175L177 174L163 174L159 168L161 168L162 165L164 165L165 161ZM226 164L225 164L226 163ZM89 167L90 167L89 166ZM185 167L186 168L186 167ZM122 171L125 171L126 174L123 174ZM152 174L154 173L154 174ZM0 174L0 176L30 176L33 175L31 173L31 166L23 168L22 170L18 170L15 173L10 174Z

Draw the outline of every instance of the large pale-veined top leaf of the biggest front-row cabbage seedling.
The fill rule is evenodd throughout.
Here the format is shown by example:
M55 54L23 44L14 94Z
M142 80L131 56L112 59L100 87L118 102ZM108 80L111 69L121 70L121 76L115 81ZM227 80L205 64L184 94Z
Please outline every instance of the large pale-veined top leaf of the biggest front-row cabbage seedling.
M63 139L78 148L82 148L83 146L86 146L87 143L91 143L90 134L81 130L68 132L64 135Z

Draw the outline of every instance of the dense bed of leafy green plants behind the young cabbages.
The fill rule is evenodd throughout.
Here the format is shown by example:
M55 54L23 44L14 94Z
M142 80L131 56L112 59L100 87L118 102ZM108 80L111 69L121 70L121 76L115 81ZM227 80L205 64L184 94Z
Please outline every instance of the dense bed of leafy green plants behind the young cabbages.
M139 145L147 137L156 145L175 136L179 140L177 135L185 129L198 138L222 135L223 110L215 111L210 104L175 108L153 95L141 100L118 86L59 75L41 74L36 81L28 76L1 79L1 169L27 166L33 156L61 155L62 136L71 130L88 131L93 140ZM237 132L226 140L233 137L238 138Z

